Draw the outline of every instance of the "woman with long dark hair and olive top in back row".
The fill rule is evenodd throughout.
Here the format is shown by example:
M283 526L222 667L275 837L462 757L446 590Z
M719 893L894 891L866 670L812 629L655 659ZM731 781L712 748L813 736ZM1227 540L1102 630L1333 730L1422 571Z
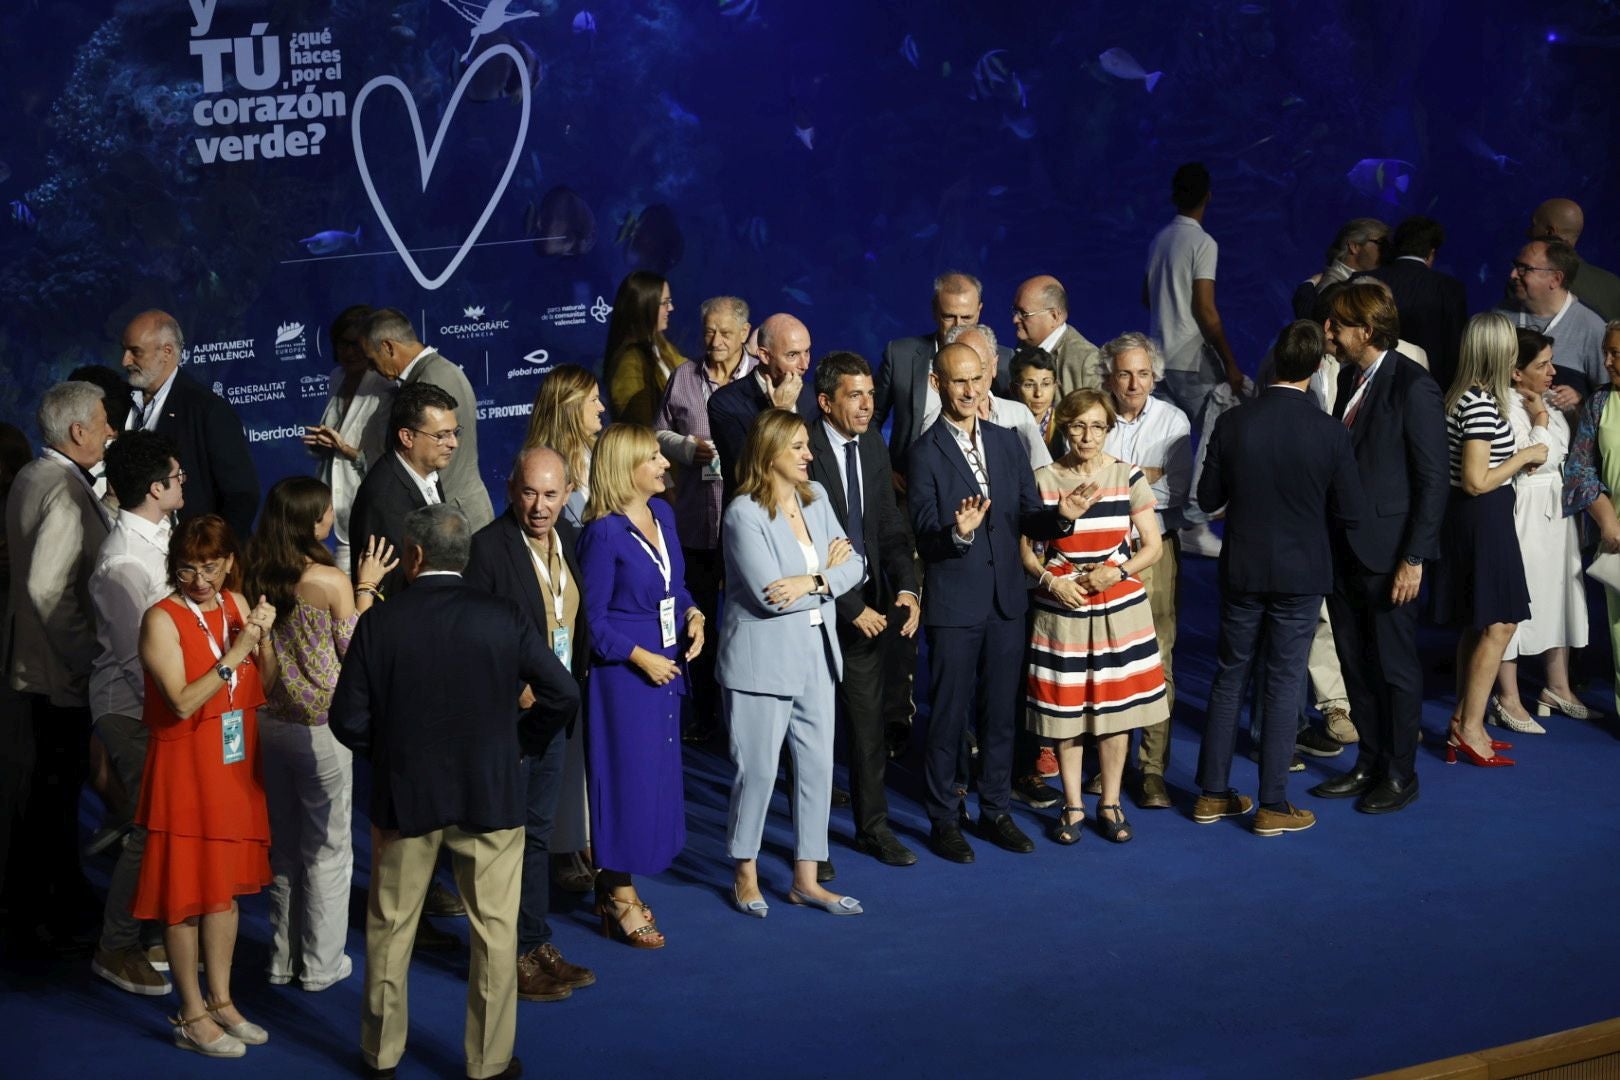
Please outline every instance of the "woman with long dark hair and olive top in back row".
M676 301L669 282L651 270L632 270L612 298L603 374L614 423L653 426L669 376L687 358L664 334Z

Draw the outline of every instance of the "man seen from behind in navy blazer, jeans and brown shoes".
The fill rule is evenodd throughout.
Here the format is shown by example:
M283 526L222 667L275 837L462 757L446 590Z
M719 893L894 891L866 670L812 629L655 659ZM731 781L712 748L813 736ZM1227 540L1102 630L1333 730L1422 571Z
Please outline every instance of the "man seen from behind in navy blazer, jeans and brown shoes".
M1215 685L1199 753L1204 795L1192 808L1199 824L1252 808L1228 779L1238 706L1262 640L1265 721L1254 832L1281 836L1315 824L1309 810L1288 803L1294 717L1306 693L1317 614L1333 588L1332 531L1354 528L1362 512L1349 432L1311 398L1311 376L1324 348L1315 322L1288 325L1273 351L1277 382L1215 421L1204 457L1199 504L1212 513L1226 507L1226 542L1220 554Z

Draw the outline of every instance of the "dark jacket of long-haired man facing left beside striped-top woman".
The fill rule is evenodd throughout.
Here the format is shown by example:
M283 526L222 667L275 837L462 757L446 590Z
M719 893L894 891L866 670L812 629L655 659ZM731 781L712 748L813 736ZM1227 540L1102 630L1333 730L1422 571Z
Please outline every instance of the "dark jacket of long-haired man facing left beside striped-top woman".
M1338 372L1333 415L1356 392L1354 364ZM1361 526L1345 539L1374 573L1392 573L1406 555L1440 557L1440 520L1452 486L1445 405L1439 384L1409 356L1385 355L1349 429L1366 494Z

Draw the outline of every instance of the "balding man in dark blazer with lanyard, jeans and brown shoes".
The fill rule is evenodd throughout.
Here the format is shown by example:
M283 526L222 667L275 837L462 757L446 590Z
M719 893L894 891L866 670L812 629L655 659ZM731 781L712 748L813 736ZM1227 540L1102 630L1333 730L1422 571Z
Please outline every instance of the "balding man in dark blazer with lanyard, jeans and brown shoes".
M517 602L535 633L573 672L585 696L591 670L583 575L575 557L577 533L562 508L569 502L567 468L549 447L518 453L507 478L507 508L473 534L467 583ZM518 706L539 709L525 691ZM538 742L523 748L528 816L523 824L523 889L517 920L517 996L562 1001L590 986L596 975L569 963L551 942L551 827L562 793L562 769L578 716L536 716ZM567 732L567 735L564 735Z

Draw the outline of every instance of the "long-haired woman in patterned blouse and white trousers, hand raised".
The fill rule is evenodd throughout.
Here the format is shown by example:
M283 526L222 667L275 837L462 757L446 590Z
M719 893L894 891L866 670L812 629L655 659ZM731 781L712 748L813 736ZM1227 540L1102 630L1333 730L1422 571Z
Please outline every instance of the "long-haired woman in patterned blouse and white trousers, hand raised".
M353 972L348 879L353 755L326 725L355 620L377 599L377 583L399 562L386 539L361 551L356 585L339 570L326 539L332 489L313 476L271 487L248 542L248 593L275 609L271 644L280 678L269 688L259 737L271 813L271 962L277 986L298 976L309 991Z

